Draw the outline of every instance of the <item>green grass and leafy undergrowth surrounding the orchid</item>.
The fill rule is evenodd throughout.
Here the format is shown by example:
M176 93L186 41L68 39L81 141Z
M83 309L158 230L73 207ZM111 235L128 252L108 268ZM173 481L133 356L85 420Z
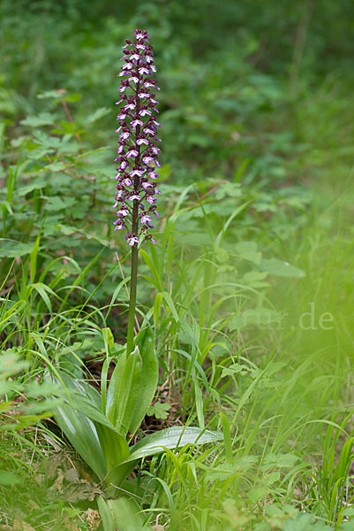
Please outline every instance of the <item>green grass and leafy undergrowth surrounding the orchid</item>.
M103 4L85 23L79 1L66 18L50 2L26 17L20 2L0 8L0 529L113 531L109 511L130 511L124 487L106 504L57 426L70 393L48 373L101 389L124 350L130 258L111 223L109 131L117 49L147 25L162 195L157 244L139 253L136 328L154 329L160 372L133 443L183 425L222 441L139 462L126 529L350 531L353 96L337 8L302 3L287 19L282 2L261 17L229 6L236 45L217 10L210 42L197 35L195 16L211 24L200 3L197 15L128 5L119 22ZM293 50L288 31L312 48Z

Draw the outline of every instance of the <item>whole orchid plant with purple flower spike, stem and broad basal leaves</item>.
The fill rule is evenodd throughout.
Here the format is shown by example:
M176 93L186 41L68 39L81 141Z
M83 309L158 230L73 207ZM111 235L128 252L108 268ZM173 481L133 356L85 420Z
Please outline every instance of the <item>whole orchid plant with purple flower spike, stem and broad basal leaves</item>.
M85 381L59 373L56 377L66 389L65 403L56 408L56 421L73 447L87 465L109 488L121 489L139 459L173 450L185 444L202 444L222 437L198 427L169 427L143 437L129 445L136 434L156 391L159 375L158 359L154 349L154 335L149 327L140 330L134 338L134 318L138 275L139 245L144 241L155 243L150 229L156 211L155 186L158 178L155 168L160 166L158 154L161 142L156 131L160 124L155 119L158 102L154 81L153 48L146 31L135 31L135 42L124 44L124 63L117 104L122 108L117 116L118 163L116 185L117 219L115 230L127 230L125 236L132 248L132 273L126 349L107 386L110 359L102 367L101 394ZM128 225L129 224L129 225ZM129 228L128 228L129 227ZM129 490L124 483L124 489ZM117 490L114 491L117 494ZM104 503L101 500L102 511Z

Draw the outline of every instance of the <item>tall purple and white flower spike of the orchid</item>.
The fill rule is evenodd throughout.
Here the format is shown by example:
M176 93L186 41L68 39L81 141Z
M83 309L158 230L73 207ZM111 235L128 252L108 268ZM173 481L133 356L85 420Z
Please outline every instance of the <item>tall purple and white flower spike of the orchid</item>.
M117 209L114 230L126 230L130 224L132 229L131 232L128 229L125 239L134 249L144 239L155 243L149 230L153 228L151 215L158 217L154 203L160 192L154 180L159 175L153 169L154 165L160 166L156 142L161 142L156 137L160 124L156 121L158 102L154 92L160 89L154 80L153 48L147 31L136 29L135 39L135 42L125 41L123 65L118 73L121 78L118 92L122 99L117 104L122 106L117 115L119 155L115 160L119 162L114 204Z

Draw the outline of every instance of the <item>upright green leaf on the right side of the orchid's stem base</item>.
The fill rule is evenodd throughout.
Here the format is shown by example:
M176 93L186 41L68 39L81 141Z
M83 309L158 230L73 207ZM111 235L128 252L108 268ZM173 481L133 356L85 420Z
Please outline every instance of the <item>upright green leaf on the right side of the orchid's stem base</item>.
M142 358L139 396L132 414L129 431L134 434L139 428L151 404L159 379L159 364L154 349L154 335L149 328L140 330L135 339Z

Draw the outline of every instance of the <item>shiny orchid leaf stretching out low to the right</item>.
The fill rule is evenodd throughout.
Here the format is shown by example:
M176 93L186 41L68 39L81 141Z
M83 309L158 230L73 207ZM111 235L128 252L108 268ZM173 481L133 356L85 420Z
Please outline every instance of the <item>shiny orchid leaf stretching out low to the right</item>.
M147 435L139 443L134 444L131 455L126 462L133 459L146 458L161 453L165 448L175 450L185 444L216 443L222 440L222 434L202 430L200 427L168 427L152 435Z

